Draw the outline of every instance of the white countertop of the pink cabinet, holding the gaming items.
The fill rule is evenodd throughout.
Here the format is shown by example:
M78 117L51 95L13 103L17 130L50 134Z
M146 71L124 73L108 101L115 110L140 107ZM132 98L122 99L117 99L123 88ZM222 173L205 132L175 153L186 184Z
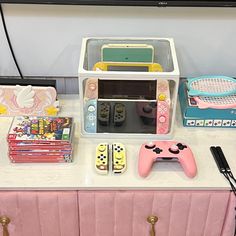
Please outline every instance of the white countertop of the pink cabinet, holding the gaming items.
M230 186L211 155L209 147L219 145L236 175L236 129L186 128L177 109L173 140L188 144L194 153L198 173L185 176L179 163L155 163L147 178L137 172L138 152L142 139L81 138L79 131L79 99L76 95L60 97L59 115L75 117L73 139L74 161L56 164L14 164L8 159L6 136L12 118L0 118L0 189L1 190L79 190L79 189L156 189L156 190L229 190ZM100 142L125 144L127 170L121 175L99 175L94 170L95 148Z

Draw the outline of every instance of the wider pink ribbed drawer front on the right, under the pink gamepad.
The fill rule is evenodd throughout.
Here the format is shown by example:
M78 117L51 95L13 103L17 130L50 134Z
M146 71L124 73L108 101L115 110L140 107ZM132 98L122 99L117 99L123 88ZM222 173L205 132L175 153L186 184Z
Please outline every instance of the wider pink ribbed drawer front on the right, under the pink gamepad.
M233 236L234 206L228 191L80 191L80 236L149 236L150 215L156 236Z

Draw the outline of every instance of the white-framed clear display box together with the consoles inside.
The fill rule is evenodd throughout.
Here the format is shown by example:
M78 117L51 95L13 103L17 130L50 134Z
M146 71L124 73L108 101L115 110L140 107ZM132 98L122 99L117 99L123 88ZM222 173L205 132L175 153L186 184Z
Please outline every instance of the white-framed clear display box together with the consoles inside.
M179 86L170 38L84 38L81 134L170 139Z

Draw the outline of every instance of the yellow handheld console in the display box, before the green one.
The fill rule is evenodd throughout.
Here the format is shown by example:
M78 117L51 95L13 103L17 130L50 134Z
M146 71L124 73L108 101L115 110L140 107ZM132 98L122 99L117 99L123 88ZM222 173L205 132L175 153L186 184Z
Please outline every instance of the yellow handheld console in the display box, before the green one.
M158 63L138 62L97 62L94 71L136 71L136 72L162 72L162 66Z

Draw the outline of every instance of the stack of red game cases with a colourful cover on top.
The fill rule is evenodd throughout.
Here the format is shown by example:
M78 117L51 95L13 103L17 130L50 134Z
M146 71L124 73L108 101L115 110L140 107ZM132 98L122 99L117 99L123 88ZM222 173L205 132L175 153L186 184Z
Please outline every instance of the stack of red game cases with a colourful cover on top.
M20 116L8 133L14 163L72 162L73 118Z

